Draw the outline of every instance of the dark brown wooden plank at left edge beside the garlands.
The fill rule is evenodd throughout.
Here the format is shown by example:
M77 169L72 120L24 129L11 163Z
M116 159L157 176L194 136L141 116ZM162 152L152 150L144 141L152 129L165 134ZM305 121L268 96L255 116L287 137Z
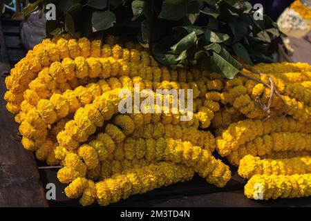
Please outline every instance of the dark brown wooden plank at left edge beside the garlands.
M6 111L5 91L0 78L0 206L48 206L34 155L12 139L18 125Z

